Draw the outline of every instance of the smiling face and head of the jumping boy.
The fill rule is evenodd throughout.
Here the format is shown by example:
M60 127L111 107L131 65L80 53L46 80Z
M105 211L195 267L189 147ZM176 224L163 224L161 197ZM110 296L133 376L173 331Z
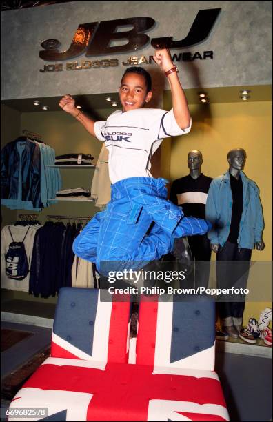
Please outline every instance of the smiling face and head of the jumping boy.
M142 74L125 74L119 88L119 99L123 112L142 108L152 98L152 92L147 92L145 78Z

